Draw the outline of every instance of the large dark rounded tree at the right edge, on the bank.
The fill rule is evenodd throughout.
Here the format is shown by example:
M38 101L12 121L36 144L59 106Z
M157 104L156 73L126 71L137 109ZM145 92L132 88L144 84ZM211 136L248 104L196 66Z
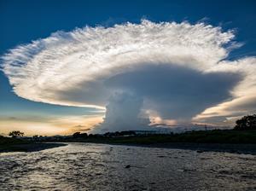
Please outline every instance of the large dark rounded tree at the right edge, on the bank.
M235 130L256 130L256 114L247 115L236 121Z

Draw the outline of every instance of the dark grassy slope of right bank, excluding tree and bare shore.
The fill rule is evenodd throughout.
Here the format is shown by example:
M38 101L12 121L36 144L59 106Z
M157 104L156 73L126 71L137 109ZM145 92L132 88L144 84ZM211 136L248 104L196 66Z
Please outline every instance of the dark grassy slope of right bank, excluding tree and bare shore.
M97 142L121 144L155 144L166 142L255 144L256 130L201 130L185 132L182 134L147 136L88 136L86 138L71 138L67 140L67 142Z

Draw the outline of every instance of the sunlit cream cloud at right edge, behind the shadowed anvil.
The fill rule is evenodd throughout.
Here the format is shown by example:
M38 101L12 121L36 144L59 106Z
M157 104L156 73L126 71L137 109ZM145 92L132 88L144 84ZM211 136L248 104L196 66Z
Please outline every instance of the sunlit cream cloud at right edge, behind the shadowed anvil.
M234 122L236 116L256 113L256 57L246 57L238 61L221 61L211 70L240 73L243 79L231 91L230 100L207 108L203 113L195 116L195 120L226 117Z

